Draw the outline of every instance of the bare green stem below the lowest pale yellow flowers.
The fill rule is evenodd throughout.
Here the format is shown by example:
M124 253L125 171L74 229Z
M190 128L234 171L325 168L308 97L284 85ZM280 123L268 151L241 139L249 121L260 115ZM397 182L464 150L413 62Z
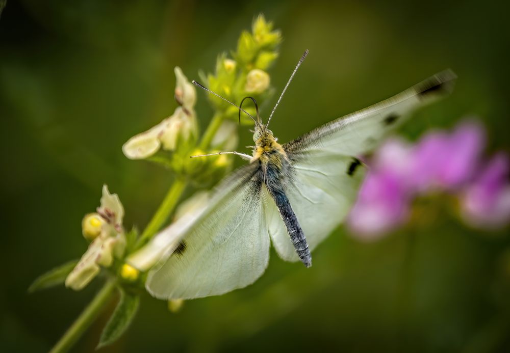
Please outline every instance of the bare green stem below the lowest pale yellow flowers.
M110 280L96 294L92 302L83 310L80 316L73 322L64 336L50 350L50 353L66 352L82 336L90 324L97 318L101 310L112 300L115 294L115 281Z

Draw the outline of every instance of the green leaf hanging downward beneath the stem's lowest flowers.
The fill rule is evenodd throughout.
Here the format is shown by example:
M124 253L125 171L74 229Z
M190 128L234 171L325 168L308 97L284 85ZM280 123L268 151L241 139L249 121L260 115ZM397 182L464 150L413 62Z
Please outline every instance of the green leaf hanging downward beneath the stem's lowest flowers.
M119 304L101 333L96 349L109 345L122 336L135 317L139 304L140 297L138 295L127 293L123 289L120 290Z

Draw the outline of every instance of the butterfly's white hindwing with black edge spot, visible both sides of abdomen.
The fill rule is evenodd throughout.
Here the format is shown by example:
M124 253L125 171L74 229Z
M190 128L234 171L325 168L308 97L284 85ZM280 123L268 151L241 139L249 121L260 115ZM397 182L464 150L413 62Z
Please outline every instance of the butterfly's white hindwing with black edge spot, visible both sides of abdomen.
M312 251L344 220L365 167L356 158L320 151L289 157L292 177L285 191ZM269 235L278 255L287 261L299 260L274 202L264 200Z

